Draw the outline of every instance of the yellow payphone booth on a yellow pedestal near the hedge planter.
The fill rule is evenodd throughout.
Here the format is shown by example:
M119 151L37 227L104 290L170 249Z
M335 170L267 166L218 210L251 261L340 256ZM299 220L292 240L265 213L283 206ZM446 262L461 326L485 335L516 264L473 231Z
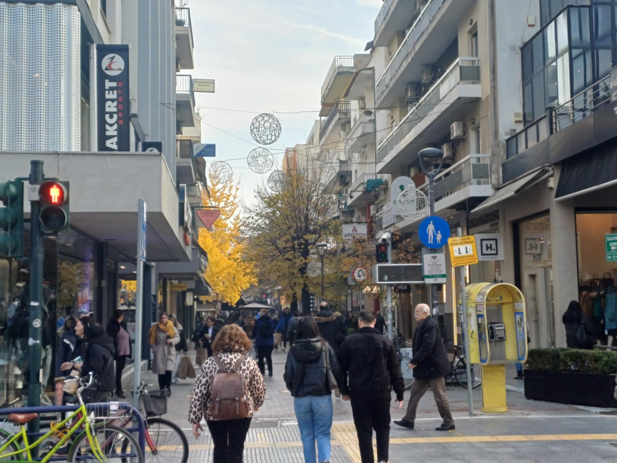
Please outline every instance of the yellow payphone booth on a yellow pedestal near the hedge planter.
M505 364L527 360L527 323L523 293L509 283L473 283L465 288L471 364L482 365L482 411L508 411ZM462 301L459 311L462 312ZM462 315L462 314L461 314Z

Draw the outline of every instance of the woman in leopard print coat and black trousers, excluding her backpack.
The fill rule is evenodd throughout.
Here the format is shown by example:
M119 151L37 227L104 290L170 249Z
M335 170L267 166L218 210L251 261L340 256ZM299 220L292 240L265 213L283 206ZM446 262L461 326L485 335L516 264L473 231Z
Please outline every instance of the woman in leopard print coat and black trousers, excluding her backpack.
M214 463L230 462L241 463L244 451L244 440L251 426L251 419L254 412L263 405L266 396L266 386L263 383L262 374L259 372L257 362L251 357L246 357L246 353L251 349L251 340L244 330L238 325L226 325L217 335L212 343L214 355L221 359L226 372L233 369L233 365L238 362L241 356L244 361L239 369L244 377L244 392L249 397L249 414L247 418L241 420L214 420L209 414L210 383L215 374L219 373L217 364L213 357L204 362L201 371L197 376L191 403L189 404L189 422L193 425L193 435L199 437L201 419L205 414L205 422L210 430L214 444Z

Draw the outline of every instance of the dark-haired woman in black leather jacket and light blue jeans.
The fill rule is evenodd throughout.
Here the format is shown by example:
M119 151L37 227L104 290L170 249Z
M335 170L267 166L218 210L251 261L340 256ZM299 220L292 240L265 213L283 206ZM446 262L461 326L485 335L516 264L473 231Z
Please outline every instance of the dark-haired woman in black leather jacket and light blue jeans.
M304 317L300 320L296 341L287 356L284 378L294 398L306 463L314 463L317 456L320 463L328 463L330 459L332 397L328 367L336 382L342 384L342 373L334 349L321 339L315 319ZM315 455L316 440L318 455Z

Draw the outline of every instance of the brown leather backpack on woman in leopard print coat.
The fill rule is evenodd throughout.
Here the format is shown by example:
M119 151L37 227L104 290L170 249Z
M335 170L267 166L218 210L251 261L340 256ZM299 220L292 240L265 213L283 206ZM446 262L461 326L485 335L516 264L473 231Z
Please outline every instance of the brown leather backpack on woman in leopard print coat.
M246 359L242 355L233 367L226 373L223 362L218 355L213 356L218 367L218 373L210 383L209 415L213 420L241 420L249 416L249 397L244 393L244 377L239 373L240 365Z

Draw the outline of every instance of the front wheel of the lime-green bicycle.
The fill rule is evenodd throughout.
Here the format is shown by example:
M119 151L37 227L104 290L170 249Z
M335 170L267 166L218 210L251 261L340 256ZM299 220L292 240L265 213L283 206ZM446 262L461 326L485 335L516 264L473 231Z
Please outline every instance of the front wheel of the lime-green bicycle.
M99 444L102 463L144 463L139 444L130 432L107 423L92 427L93 437ZM100 461L84 431L75 439L68 451L67 461L82 463Z

